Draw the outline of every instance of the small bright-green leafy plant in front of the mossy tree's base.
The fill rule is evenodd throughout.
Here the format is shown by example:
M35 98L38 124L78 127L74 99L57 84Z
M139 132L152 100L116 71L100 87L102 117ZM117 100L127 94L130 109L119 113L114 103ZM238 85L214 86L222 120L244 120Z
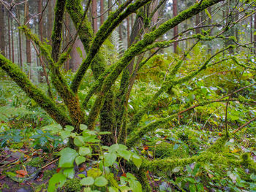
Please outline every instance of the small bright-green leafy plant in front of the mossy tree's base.
M80 185L86 187L85 191L97 191L101 188L108 188L109 191L142 191L137 178L124 172L121 167L124 161L131 161L139 169L142 159L136 153L127 150L125 145L101 146L101 135L110 134L109 132L91 131L83 124L80 125L81 134L74 133L73 130L72 126L66 126L60 131L61 138L73 142L77 150L65 147L59 152L61 169L50 178L48 191L56 191L56 188L64 186L68 179L75 177L75 167L88 161L91 168L86 169L86 174L78 174L81 178ZM114 173L121 170L122 176L118 183Z

